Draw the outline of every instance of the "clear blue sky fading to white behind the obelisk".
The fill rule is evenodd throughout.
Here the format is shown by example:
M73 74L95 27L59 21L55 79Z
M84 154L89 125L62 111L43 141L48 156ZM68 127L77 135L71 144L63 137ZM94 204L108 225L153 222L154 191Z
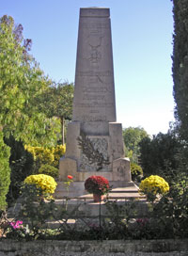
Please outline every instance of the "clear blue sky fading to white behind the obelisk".
M79 9L110 8L117 121L166 133L174 120L170 0L0 0L55 82L74 82Z

